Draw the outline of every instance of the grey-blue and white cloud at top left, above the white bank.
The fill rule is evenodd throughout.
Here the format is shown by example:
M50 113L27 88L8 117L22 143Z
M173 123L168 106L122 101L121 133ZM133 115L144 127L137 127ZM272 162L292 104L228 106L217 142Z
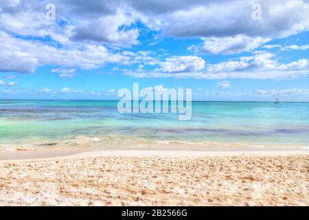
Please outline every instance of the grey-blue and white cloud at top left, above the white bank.
M59 23L45 19L43 1L21 1L15 7L4 8L0 25L8 31L23 36L49 36L59 43L99 41L131 45L137 43L138 30L126 30L136 18L126 13L122 3L108 1L53 1ZM122 28L119 30L119 28Z

